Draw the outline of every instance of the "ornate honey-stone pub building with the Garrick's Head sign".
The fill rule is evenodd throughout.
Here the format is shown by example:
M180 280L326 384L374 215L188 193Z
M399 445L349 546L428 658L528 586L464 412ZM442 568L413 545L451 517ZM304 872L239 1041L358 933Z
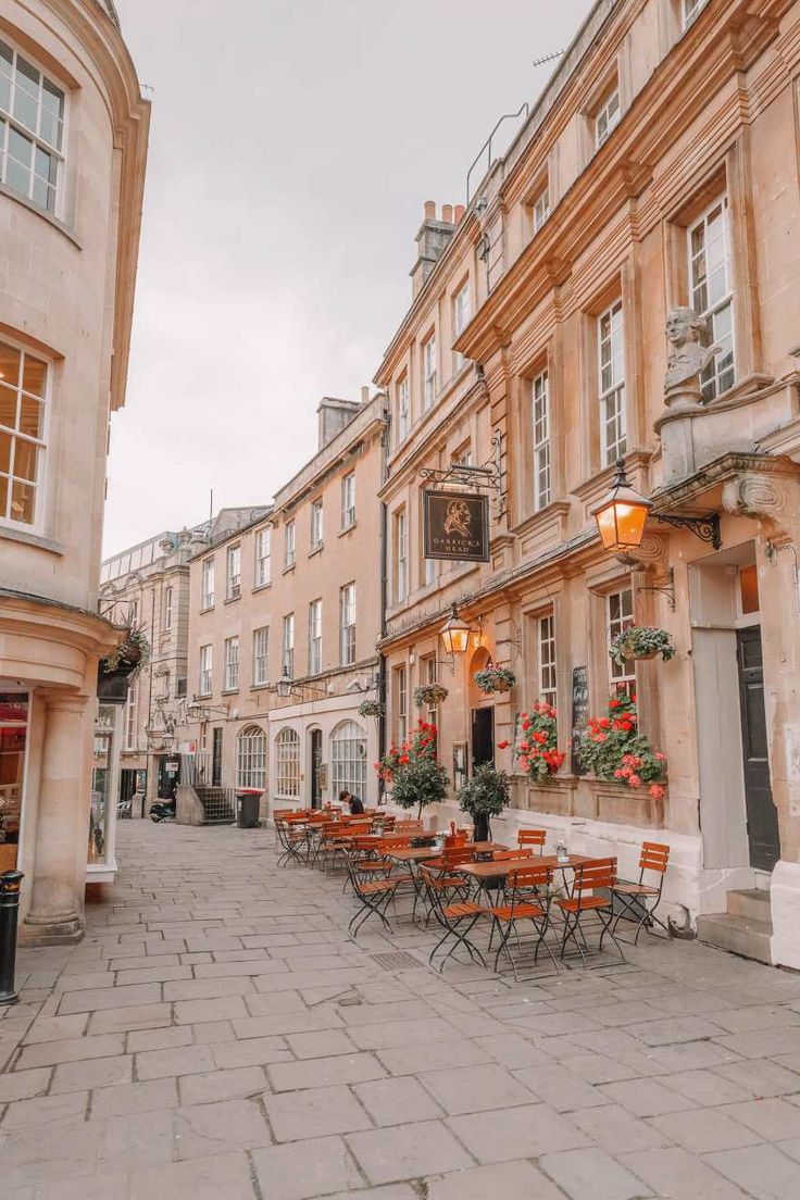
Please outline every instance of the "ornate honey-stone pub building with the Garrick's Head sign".
M413 304L375 377L392 408L391 737L438 677L451 776L487 758L512 773L501 838L546 827L628 876L643 839L668 842L678 920L794 967L799 34L793 0L599 0L467 210L426 208ZM687 322L716 347L679 403L673 310L692 311L673 336ZM593 517L620 458L652 502L621 560ZM421 472L458 490L459 464L488 468L488 563L423 553ZM471 635L450 656L453 601ZM631 623L663 628L675 656L614 662ZM513 672L510 692L477 688L489 662ZM573 727L619 692L666 755L663 796L572 754ZM543 784L513 755L537 700L566 756Z

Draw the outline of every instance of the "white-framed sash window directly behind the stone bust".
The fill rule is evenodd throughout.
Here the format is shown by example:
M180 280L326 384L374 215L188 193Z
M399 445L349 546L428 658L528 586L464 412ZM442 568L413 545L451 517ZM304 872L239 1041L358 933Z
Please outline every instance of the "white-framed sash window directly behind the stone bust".
M705 318L703 344L721 347L700 376L703 400L708 402L735 382L727 196L715 200L688 229L688 274L692 308Z

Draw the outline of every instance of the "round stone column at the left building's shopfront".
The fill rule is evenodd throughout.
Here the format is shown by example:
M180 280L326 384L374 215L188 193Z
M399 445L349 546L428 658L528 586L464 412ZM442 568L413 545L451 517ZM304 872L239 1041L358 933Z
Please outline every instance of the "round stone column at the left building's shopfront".
M86 870L85 740L89 697L44 696L47 719L36 815L31 905L23 924L26 944L76 942L83 936ZM85 794L84 794L85 793Z

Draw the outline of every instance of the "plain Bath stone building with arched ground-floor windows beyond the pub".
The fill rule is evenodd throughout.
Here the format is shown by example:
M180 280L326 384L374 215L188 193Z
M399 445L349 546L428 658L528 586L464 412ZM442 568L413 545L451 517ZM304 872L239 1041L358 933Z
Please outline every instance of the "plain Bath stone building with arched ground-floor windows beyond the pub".
M319 449L269 515L211 539L190 568L188 725L196 796L229 806L319 806L342 787L377 800L384 397L325 397ZM209 792L209 788L211 791ZM199 800L197 799L199 797ZM184 810L181 812L181 810Z

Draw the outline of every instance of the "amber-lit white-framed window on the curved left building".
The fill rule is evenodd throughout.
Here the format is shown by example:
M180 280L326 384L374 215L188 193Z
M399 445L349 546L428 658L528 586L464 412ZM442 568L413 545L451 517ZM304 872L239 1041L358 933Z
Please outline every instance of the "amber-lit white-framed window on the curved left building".
M0 342L0 521L41 524L47 391L47 364Z

